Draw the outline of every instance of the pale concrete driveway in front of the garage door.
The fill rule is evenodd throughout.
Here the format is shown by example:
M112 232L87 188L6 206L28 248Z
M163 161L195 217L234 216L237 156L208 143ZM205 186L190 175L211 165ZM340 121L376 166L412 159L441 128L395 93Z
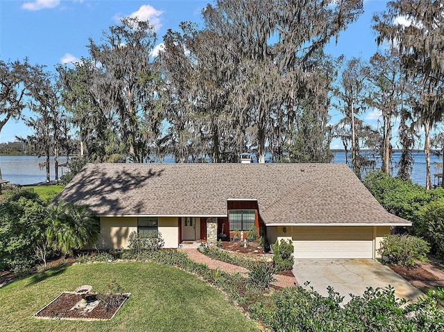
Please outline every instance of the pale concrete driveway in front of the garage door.
M385 288L391 285L395 288L395 296L404 299L414 300L424 295L390 268L372 260L296 261L293 274L300 286L312 286L323 296L328 295L327 286L332 286L345 296L344 303L350 301L349 293L362 295L368 286ZM308 286L304 286L305 281L310 281Z

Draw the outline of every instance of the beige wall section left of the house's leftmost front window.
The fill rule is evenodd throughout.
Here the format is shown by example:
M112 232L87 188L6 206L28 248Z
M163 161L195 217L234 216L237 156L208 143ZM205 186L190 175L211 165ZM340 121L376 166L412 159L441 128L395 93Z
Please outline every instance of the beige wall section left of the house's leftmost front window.
M128 236L137 231L137 217L101 217L98 249L126 249Z

